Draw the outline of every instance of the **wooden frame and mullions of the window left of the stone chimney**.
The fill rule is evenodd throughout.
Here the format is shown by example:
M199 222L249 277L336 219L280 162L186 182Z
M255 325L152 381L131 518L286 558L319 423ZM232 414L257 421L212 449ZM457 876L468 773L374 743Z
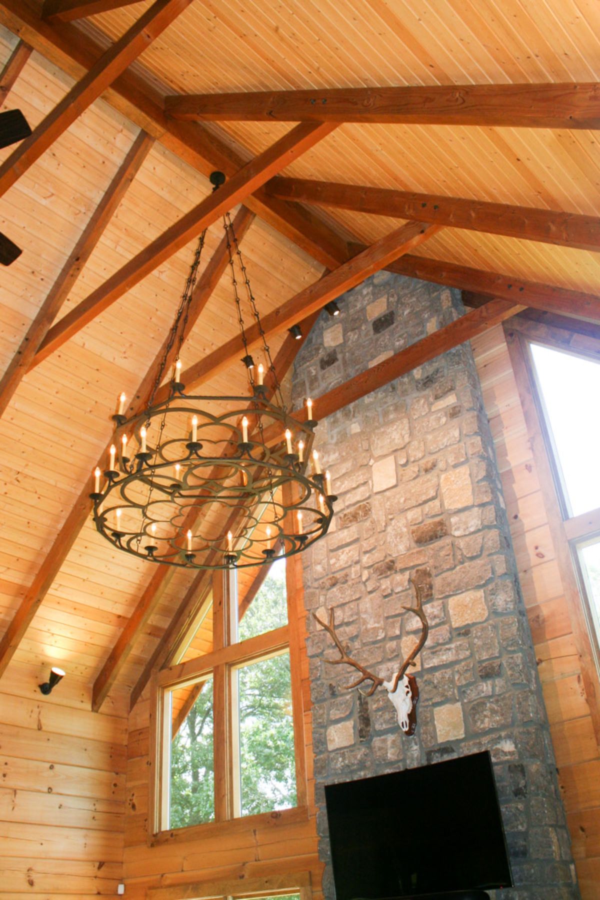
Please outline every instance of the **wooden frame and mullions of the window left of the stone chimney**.
M212 573L213 650L187 662L173 662L153 672L150 687L150 759L154 762L149 779L148 842L157 843L183 836L185 839L213 833L234 823L248 827L273 820L273 812L282 824L308 819L308 782L304 734L304 705L300 675L301 562L298 556L286 561L288 624L263 635L237 641L237 579L235 570ZM290 654L291 712L296 768L296 806L256 815L237 815L237 746L234 727L233 673L240 666L259 662L278 653ZM183 652L178 653L179 659ZM168 817L169 754L171 740L170 709L166 695L174 688L192 686L212 675L213 684L213 759L215 815L207 823L166 829Z

